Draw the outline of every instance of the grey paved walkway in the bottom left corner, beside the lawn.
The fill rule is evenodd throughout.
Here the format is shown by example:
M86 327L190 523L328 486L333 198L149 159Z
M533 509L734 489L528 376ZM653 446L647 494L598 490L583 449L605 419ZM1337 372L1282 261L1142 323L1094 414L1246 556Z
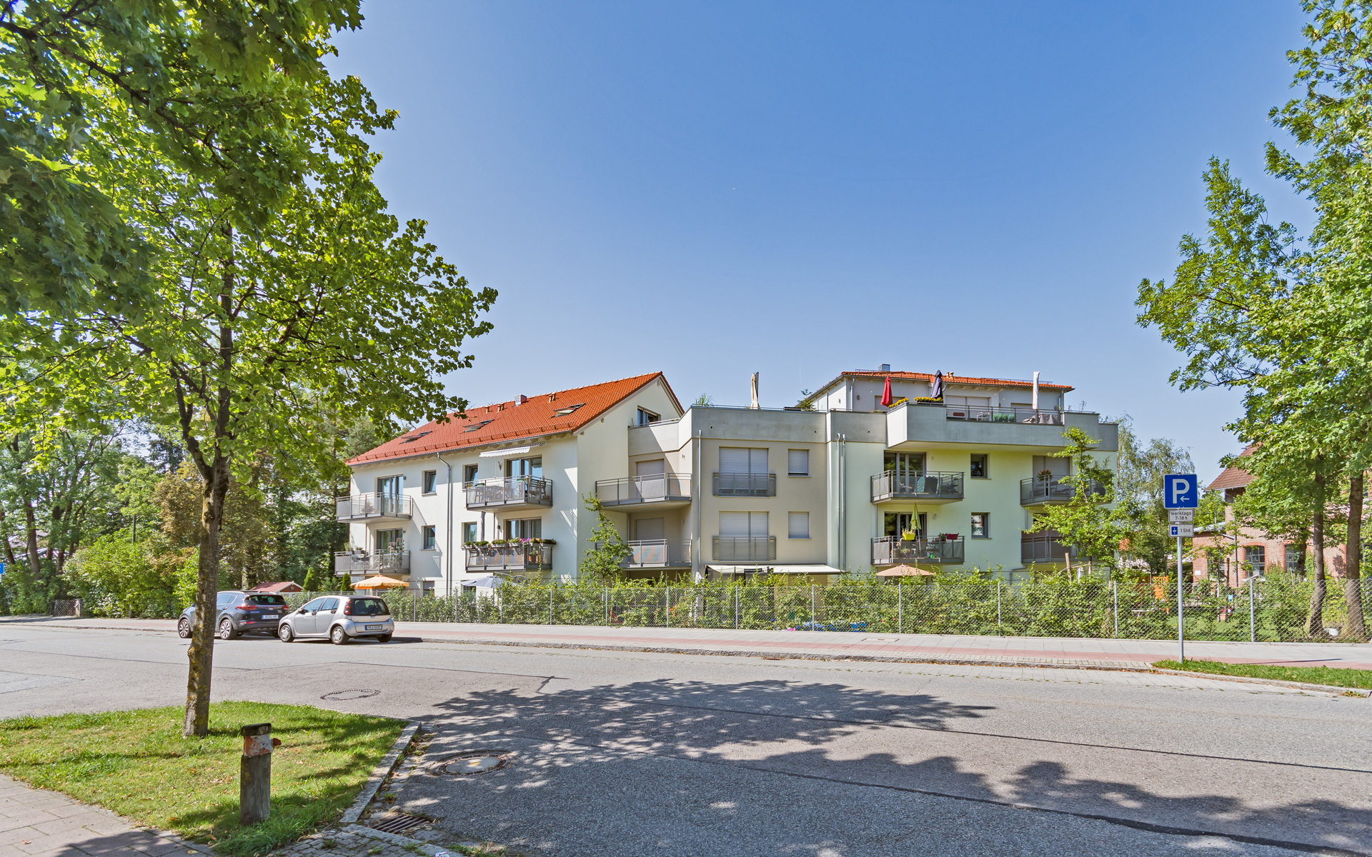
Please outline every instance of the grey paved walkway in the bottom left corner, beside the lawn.
M108 809L0 775L0 857L162 857L209 849L133 827Z

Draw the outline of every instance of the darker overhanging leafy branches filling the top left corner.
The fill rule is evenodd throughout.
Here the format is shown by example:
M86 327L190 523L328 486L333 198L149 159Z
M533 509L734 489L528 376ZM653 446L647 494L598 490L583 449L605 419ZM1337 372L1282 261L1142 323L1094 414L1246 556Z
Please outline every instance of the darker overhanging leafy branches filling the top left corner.
M358 0L0 1L0 314L150 296L151 248L92 163L111 111L265 222L305 173L303 103L276 82L324 77L327 37L361 21Z

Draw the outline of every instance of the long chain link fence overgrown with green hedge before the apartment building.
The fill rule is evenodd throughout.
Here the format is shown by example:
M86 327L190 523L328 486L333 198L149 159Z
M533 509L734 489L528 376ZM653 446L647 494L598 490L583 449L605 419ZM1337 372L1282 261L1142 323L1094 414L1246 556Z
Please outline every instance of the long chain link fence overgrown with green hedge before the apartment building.
M1269 575L1238 588L1196 581L1184 592L1188 640L1309 640L1313 581ZM1361 592L1372 614L1369 588ZM324 592L287 595L292 607ZM744 628L1176 639L1174 580L985 580L886 583L858 577L830 586L753 581L697 586L524 584L493 594L381 595L401 621L646 628ZM1329 580L1323 628L1314 638L1345 636L1342 580ZM1345 636L1345 639L1347 639Z

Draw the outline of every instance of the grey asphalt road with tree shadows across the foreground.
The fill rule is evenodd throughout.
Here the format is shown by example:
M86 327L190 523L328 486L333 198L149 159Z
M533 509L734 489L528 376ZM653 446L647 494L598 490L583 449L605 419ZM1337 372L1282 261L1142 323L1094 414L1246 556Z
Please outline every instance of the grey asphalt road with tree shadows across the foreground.
M173 633L0 623L0 716L177 705ZM240 639L215 697L421 719L398 805L556 856L1372 854L1372 701L1069 669ZM336 691L375 695L325 701Z

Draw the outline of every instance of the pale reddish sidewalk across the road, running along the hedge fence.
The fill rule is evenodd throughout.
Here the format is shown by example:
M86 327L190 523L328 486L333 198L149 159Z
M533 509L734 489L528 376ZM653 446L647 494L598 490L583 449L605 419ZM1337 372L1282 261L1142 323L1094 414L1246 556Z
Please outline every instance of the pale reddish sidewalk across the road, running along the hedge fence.
M174 633L172 620L7 617L52 628L115 628ZM556 649L608 649L674 654L731 654L767 658L825 658L1146 669L1177 657L1176 640L1117 640L1040 636L954 636L932 633L833 633L816 631L734 631L718 628L606 628L601 625L395 624L398 638L436 643L484 643ZM1231 664L1343 666L1372 669L1369 643L1218 643L1187 640L1187 657Z

